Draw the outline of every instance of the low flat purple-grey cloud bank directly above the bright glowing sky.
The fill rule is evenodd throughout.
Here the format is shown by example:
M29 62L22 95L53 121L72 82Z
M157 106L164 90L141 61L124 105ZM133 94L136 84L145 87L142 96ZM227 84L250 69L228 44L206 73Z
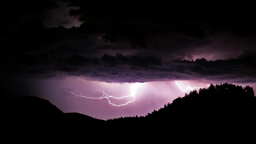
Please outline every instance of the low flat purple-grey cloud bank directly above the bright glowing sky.
M81 76L115 83L197 79L236 83L256 82L256 61L252 56L216 61L163 61L153 56L105 54L101 58L86 58L81 55L55 57L49 62L31 55L26 56L26 60L31 63L20 60L16 67L16 75L37 78Z

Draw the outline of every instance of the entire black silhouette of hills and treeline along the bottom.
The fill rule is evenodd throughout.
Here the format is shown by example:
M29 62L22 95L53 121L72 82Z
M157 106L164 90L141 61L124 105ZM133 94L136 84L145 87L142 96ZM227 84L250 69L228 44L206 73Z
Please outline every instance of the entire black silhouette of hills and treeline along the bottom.
M48 100L25 96L4 103L3 128L8 130L122 133L171 132L253 132L256 97L251 87L212 85L186 93L146 116L120 117L107 121L79 113L63 113ZM97 134L96 134L97 135Z

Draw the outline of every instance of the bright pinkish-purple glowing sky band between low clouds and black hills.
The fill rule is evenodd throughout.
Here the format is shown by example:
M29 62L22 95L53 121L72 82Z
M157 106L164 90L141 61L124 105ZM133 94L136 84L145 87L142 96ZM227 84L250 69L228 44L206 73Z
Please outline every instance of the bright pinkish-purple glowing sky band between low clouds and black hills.
M33 81L34 85L30 86L29 91L23 92L23 94L36 95L40 98L49 100L52 104L66 113L78 112L104 120L121 116L145 116L148 112L152 112L154 109L157 110L162 108L164 104L172 102L172 100L178 96L182 97L185 94L185 92L180 91L179 87L175 84L175 81L142 83L137 88L135 100L133 102L117 107L110 105L106 99L86 99L77 97L69 92L62 91L80 91L84 96L99 98L101 94L93 93L92 91L96 88L102 88L105 89L109 95L114 97L122 97L131 94L131 83L110 84L105 82L88 81L79 77L76 79L74 79L74 77L69 77L65 80L27 80L27 84L31 85ZM23 83L22 85L26 85L24 80L20 82ZM187 86L208 87L207 82L204 82L206 81L178 81L178 84L182 90L185 90ZM239 85L242 85L243 87L246 86L246 84ZM256 83L247 85L250 85L256 89ZM18 90L17 87L20 85L13 84L13 86L16 90ZM189 91L190 90L186 92L188 93ZM16 93L17 95L20 94L19 91ZM123 104L132 100L132 97L124 98L123 100L110 100L114 104Z

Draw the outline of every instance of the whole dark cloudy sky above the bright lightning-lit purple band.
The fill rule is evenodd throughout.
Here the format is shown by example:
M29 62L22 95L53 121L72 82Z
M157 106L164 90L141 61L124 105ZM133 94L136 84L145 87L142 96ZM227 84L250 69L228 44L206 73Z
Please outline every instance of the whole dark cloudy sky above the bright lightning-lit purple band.
M1 6L6 79L256 81L253 4L25 0Z

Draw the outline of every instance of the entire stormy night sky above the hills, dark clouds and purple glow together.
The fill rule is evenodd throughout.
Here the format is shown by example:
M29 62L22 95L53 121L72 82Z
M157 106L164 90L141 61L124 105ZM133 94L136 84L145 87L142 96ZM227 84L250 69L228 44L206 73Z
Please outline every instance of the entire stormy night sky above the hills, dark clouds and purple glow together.
M256 89L253 4L25 0L1 5L3 98L37 96L63 112L106 120L145 116L184 96L191 89L181 90L188 86L228 82ZM115 98L131 96L108 100L96 89Z

